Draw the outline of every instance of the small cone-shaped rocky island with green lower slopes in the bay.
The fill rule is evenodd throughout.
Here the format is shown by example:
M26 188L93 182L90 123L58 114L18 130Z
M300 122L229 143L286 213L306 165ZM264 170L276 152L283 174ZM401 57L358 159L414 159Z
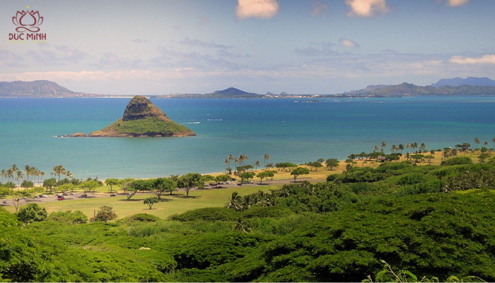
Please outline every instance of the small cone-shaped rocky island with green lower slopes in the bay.
M90 134L76 133L62 137L188 137L192 130L179 125L144 96L134 96L124 116L103 129Z

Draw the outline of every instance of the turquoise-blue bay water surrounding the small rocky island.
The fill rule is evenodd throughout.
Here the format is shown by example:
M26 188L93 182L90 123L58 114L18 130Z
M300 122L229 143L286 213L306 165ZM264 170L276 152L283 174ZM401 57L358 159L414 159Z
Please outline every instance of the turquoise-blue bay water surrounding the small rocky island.
M197 137L59 138L122 117L129 98L0 98L0 169L16 163L47 175L151 178L223 171L228 154L247 163L305 163L371 152L375 144L454 146L495 137L495 98L154 99ZM233 163L232 163L233 166Z

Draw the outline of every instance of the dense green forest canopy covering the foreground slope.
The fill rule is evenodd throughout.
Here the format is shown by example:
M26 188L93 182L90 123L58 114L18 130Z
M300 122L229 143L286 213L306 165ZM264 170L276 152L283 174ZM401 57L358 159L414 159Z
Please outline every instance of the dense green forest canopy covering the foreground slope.
M397 280L381 272L387 262L418 280L495 281L495 160L414 165L354 166L325 183L233 193L225 207L169 219L136 214L105 222L112 218L105 207L92 221L77 211L46 215L37 204L16 214L0 209L0 279Z

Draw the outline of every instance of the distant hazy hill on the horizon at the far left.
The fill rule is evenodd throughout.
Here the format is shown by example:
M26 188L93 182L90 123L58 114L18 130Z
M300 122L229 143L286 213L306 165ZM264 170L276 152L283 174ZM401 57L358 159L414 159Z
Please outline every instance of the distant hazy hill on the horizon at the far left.
M53 81L0 81L0 97L76 97L86 93L70 91Z

